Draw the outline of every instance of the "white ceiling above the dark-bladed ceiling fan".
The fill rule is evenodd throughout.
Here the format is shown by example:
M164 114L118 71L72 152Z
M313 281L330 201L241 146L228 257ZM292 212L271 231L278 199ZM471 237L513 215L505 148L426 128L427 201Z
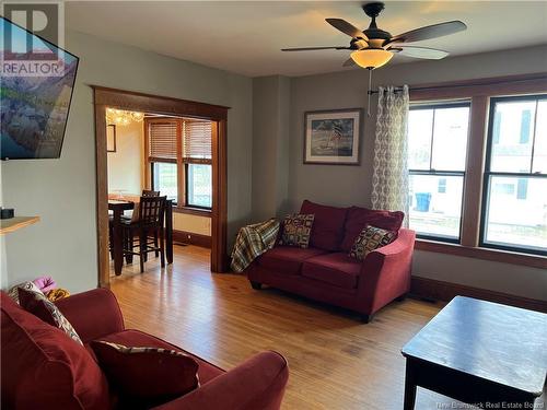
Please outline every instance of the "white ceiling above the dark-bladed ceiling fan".
M280 48L348 45L325 17L365 28L364 2L71 1L66 21L70 30L245 75L304 75L342 70L349 51ZM398 34L450 20L467 31L415 45L458 56L547 43L546 1L387 1L377 23Z

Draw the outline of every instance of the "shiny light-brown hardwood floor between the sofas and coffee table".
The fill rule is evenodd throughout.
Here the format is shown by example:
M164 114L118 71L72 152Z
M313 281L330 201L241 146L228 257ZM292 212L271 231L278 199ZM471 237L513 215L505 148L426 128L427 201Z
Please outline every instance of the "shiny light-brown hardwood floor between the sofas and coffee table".
M175 246L165 269L138 258L112 280L126 326L159 336L225 370L263 351L289 361L283 409L400 410L400 348L440 309L394 302L369 325L357 315L277 290L254 291L243 276L210 273L209 250ZM453 401L419 389L416 409ZM446 406L446 407L445 407Z

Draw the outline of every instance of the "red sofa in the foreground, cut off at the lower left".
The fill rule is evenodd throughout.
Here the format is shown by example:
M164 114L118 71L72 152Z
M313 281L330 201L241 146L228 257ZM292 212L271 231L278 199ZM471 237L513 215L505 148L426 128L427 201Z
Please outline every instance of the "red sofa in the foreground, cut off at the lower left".
M106 289L56 303L85 348L22 309L4 292L0 302L2 409L119 408L89 348L92 340L182 351L153 336L125 329L118 303ZM279 409L289 377L280 354L259 353L229 372L191 356L199 364L200 387L155 409Z

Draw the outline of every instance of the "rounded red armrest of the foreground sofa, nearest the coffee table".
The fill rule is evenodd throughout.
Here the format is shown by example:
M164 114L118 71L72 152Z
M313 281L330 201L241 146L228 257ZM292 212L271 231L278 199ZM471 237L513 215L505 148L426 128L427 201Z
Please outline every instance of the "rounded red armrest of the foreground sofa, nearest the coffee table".
M155 410L277 410L289 368L276 352L259 353L198 389Z

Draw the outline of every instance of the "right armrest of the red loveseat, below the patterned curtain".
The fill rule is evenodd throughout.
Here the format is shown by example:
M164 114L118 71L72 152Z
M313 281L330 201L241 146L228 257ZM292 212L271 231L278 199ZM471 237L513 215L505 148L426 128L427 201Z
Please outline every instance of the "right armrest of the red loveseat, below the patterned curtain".
M389 245L371 251L363 260L359 293L371 314L410 290L416 233L400 229Z

